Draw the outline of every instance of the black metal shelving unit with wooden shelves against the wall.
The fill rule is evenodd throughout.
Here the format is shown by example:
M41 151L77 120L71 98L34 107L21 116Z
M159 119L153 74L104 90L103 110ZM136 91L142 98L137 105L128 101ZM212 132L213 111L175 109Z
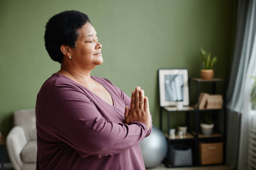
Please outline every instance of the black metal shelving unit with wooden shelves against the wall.
M163 163L167 168L172 168L172 165L170 163L170 154L169 154L169 147L171 144L174 143L186 143L189 144L192 148L192 160L193 165L192 166L200 166L200 159L199 159L199 143L204 142L223 142L223 163L222 164L213 164L213 165L225 165L225 148L226 148L226 96L225 96L225 90L226 90L226 82L224 79L219 78L212 78L211 80L203 80L200 78L189 78L189 90L192 82L195 82L197 85L197 103L199 103L199 96L200 96L200 84L201 83L212 83L212 94L215 94L216 92L216 83L220 82L223 83L223 107L221 109L202 109L200 110L197 105L197 107L193 105L184 106L181 110L177 110L176 107L160 107L160 130L163 131L163 113L167 112L167 132L163 132L166 140L168 142L168 152L167 156L164 159ZM217 130L217 128L220 127L214 127L214 133L212 135L202 135L199 133L199 117L200 112L212 112L212 115L218 115L220 111L223 111L223 129ZM186 126L187 126L187 135L184 135L183 138L179 138L179 136L175 135L175 138L172 139L169 134L170 129L170 114L174 112L186 112ZM191 114L195 114L195 126L194 130L192 130L190 125L190 118ZM220 125L219 125L220 126ZM221 132L222 131L222 132ZM205 165L204 165L205 166ZM207 165L206 165L207 166ZM175 167L176 168L176 167Z

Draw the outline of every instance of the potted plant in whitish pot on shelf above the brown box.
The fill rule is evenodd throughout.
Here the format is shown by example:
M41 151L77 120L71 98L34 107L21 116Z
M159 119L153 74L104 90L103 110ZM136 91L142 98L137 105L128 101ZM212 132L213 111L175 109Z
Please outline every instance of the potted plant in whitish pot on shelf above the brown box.
M203 135L211 135L214 123L212 118L208 115L208 113L204 113L204 116L202 117L201 123L200 123L201 131Z

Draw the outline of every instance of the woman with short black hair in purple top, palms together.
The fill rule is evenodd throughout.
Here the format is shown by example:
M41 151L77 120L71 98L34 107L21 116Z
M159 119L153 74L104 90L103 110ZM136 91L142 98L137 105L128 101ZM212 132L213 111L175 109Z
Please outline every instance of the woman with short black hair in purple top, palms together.
M148 98L131 98L91 76L102 45L84 13L64 11L46 24L45 46L61 69L36 100L37 170L143 170L139 142L152 130Z

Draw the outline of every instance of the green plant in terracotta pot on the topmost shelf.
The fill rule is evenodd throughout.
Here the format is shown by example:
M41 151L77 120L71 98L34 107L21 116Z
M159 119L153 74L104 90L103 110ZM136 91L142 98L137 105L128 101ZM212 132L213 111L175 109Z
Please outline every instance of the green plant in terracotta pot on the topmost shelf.
M217 57L215 56L211 58L211 53L206 52L202 47L201 47L200 56L202 57L202 65L203 65L203 69L200 72L200 76L202 77L202 79L211 80L214 75L212 66L217 61Z

